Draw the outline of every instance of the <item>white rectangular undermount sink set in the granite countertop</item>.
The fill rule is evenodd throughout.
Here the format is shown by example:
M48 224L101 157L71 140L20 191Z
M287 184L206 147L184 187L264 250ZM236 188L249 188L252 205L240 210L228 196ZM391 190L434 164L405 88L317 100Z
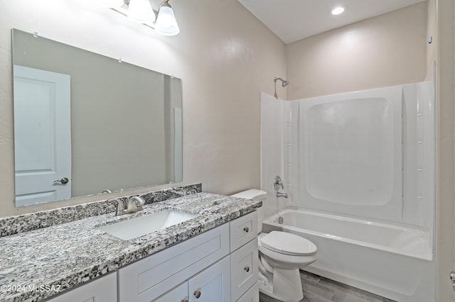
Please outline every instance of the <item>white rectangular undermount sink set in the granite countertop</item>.
M164 210L156 213L122 220L111 225L99 227L100 230L109 233L122 240L131 240L143 235L163 230L171 225L183 223L186 220L195 218L197 215L177 210Z

